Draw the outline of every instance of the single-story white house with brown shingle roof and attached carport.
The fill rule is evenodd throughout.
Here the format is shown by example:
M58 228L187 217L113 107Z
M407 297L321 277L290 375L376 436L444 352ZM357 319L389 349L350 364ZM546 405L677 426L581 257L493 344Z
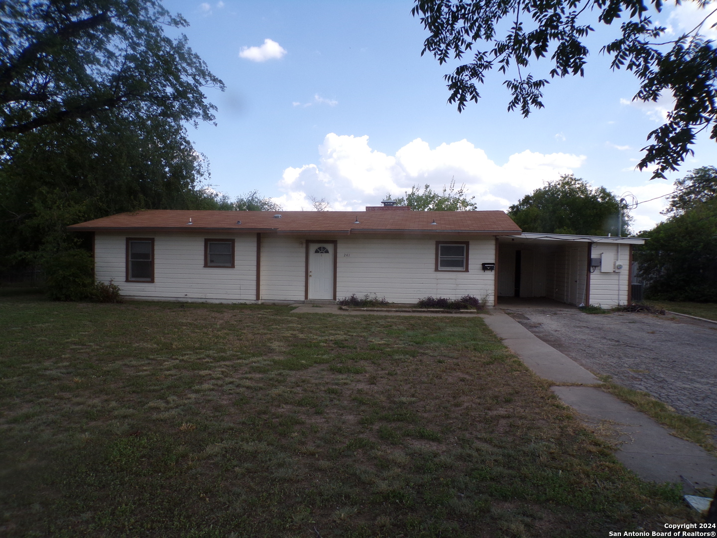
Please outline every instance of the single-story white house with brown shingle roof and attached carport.
M162 301L296 303L355 293L630 300L632 245L643 240L526 234L502 211L147 210L72 225L91 232L97 278ZM594 265L599 260L599 266ZM497 297L496 297L497 296Z

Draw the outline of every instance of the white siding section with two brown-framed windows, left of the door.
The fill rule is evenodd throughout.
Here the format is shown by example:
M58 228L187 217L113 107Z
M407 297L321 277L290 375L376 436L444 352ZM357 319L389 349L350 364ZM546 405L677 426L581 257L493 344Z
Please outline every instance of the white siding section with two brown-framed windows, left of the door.
M154 282L125 282L126 237L154 237ZM234 239L234 268L204 267L204 238ZM256 235L95 235L95 273L128 298L255 302Z

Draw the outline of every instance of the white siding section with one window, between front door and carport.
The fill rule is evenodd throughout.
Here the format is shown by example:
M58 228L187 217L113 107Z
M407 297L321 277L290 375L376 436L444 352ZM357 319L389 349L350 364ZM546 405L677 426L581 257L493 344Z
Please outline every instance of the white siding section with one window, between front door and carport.
M436 237L346 237L338 240L336 297L376 293L386 301L415 303L434 296L486 298L493 305L495 275L481 263L495 263L494 237L441 237L468 241L468 272L436 271Z

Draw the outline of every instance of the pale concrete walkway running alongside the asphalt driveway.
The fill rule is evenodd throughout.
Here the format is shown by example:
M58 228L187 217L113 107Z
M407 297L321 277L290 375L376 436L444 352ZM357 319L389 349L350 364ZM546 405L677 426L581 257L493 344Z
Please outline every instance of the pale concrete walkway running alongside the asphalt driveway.
M655 482L680 482L686 478L696 488L717 486L717 458L689 441L676 438L647 415L596 387L599 379L566 355L533 335L501 311L482 316L503 343L526 366L549 381L573 386L552 387L585 423L604 425L617 432L615 456L637 476ZM687 493L691 493L688 491Z

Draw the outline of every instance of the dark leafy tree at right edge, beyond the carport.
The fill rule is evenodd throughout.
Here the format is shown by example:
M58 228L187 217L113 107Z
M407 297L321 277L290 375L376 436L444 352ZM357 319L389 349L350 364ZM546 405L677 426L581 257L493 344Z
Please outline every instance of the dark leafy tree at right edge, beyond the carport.
M670 217L652 230L635 259L650 298L717 301L717 169L703 166L675 181Z

